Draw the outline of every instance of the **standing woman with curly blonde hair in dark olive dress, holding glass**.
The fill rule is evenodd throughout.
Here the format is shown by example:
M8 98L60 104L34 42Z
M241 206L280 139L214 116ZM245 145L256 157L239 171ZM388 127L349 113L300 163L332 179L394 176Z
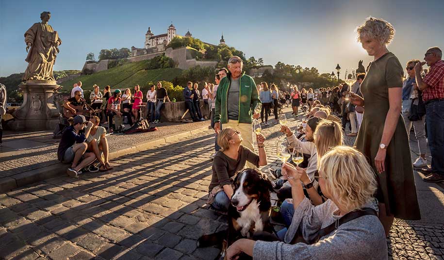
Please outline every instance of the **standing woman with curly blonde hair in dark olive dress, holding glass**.
M411 166L410 146L401 117L403 68L387 45L395 34L393 26L368 18L358 28L358 39L374 61L361 84L362 97L351 94L355 105L365 111L355 146L365 154L377 174L379 219L389 234L394 217L421 218Z

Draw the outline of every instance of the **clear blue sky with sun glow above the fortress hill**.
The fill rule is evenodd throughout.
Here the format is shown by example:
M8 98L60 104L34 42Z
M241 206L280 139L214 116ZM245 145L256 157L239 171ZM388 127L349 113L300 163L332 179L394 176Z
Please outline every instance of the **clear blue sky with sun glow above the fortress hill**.
M317 67L331 73L372 60L356 40L356 27L368 16L395 27L389 50L401 64L424 58L429 47L444 48L444 0L0 0L0 77L24 72L23 34L40 13L51 12L49 24L62 45L54 70L81 70L86 54L100 49L143 48L148 27L166 33L173 22L177 34L226 44L264 64L283 62ZM341 77L342 78L342 77Z

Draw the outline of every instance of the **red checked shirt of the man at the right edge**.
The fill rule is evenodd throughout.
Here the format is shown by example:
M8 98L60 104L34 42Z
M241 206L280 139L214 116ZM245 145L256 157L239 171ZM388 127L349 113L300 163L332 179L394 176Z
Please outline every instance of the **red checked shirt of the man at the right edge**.
M439 61L430 67L430 71L424 77L423 82L428 88L423 90L423 100L444 98L444 61Z

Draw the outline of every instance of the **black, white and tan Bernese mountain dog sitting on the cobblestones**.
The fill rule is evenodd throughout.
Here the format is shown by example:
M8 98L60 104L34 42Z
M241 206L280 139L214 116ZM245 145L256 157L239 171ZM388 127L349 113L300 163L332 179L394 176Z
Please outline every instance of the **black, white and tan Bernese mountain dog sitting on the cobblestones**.
M225 250L236 240L252 238L255 233L272 233L269 216L271 209L270 180L257 169L247 168L239 172L233 181L234 193L228 209L228 229L213 234L203 235L197 246L217 245Z

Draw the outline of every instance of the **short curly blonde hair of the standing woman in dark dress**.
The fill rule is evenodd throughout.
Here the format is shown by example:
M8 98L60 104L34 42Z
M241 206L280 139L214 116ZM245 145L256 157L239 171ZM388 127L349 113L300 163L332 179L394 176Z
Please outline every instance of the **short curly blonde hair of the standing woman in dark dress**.
M361 37L365 36L377 39L381 44L389 45L395 37L395 28L391 23L371 16L356 29L356 32L358 33L358 42L361 42Z

